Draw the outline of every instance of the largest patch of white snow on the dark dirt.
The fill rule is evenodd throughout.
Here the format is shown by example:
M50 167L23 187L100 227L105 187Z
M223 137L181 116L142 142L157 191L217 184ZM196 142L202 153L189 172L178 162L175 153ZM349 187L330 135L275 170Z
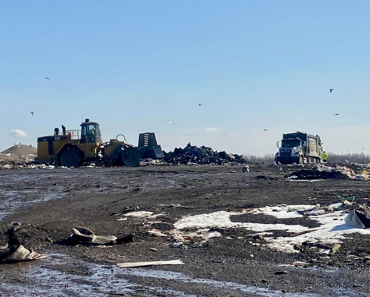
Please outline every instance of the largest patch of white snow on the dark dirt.
M282 252L297 253L294 249L295 245L300 245L303 242L333 244L342 243L346 234L360 233L370 235L370 229L355 228L347 225L344 218L347 213L343 211L335 211L319 216L308 216L308 219L317 221L321 226L316 228L308 228L301 225L285 225L282 223L263 224L263 223L242 223L232 222L230 216L238 216L243 214L262 214L271 215L277 219L285 218L301 218L302 215L296 212L297 209L307 209L314 205L287 205L287 206L266 206L255 209L246 209L240 212L217 211L210 214L189 215L179 219L174 223L175 229L184 228L206 228L218 226L220 228L244 228L251 231L265 232L268 230L282 230L288 233L299 233L302 231L310 231L308 233L293 236L293 237L265 237L266 246L271 249L280 250Z

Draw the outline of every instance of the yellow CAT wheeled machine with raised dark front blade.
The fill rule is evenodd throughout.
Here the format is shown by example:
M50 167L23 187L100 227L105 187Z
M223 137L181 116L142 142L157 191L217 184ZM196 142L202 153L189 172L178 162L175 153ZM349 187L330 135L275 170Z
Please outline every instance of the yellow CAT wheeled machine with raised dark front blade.
M124 141L119 141L122 136ZM102 142L97 122L85 119L81 130L54 129L53 136L37 138L37 158L40 163L59 163L65 167L77 167L84 162L110 161L115 165L137 166L142 158L162 158L163 151L154 133L139 134L135 147L126 143L122 134L116 139Z

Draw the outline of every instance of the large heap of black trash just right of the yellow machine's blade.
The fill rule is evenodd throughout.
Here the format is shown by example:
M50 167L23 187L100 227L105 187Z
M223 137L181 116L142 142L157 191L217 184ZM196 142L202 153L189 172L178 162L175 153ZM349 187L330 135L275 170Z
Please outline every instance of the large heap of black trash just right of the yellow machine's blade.
M225 151L213 151L210 147L192 146L190 143L185 148L175 148L169 153L163 152L163 160L171 164L186 164L186 165L205 165L205 164L227 164L239 163L246 164L247 162L242 156L237 154L226 153Z

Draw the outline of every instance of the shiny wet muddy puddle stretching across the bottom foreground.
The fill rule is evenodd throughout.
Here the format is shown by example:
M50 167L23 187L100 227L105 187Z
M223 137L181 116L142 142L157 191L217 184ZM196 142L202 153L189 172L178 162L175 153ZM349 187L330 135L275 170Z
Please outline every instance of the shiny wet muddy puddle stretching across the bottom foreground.
M172 288L148 286L127 280L127 276L139 276L179 283L204 284L216 289L235 290L253 296L266 297L324 297L315 293L289 293L264 287L248 286L231 281L201 279L183 273L154 270L151 268L120 268L115 265L88 263L77 258L57 254L48 254L47 259L40 262L22 263L21 265L4 266L3 273L19 279L17 284L2 283L2 293L17 296L104 296L108 292L130 294L144 293L144 296L157 296L158 292L166 296L196 297ZM145 281L144 281L145 282ZM353 292L354 293L354 292ZM355 296L347 289L336 288L333 296ZM14 295L16 296L16 295ZM357 295L358 296L358 292Z

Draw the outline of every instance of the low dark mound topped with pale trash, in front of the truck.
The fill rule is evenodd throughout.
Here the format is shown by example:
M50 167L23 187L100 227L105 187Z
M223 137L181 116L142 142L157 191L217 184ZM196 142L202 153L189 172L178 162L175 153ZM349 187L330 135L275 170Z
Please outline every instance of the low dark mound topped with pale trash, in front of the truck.
M324 164L316 165L312 169L302 169L289 176L290 178L315 179L315 178L348 178L355 180L369 180L369 175L365 173L356 174L351 168L346 166L330 167Z

